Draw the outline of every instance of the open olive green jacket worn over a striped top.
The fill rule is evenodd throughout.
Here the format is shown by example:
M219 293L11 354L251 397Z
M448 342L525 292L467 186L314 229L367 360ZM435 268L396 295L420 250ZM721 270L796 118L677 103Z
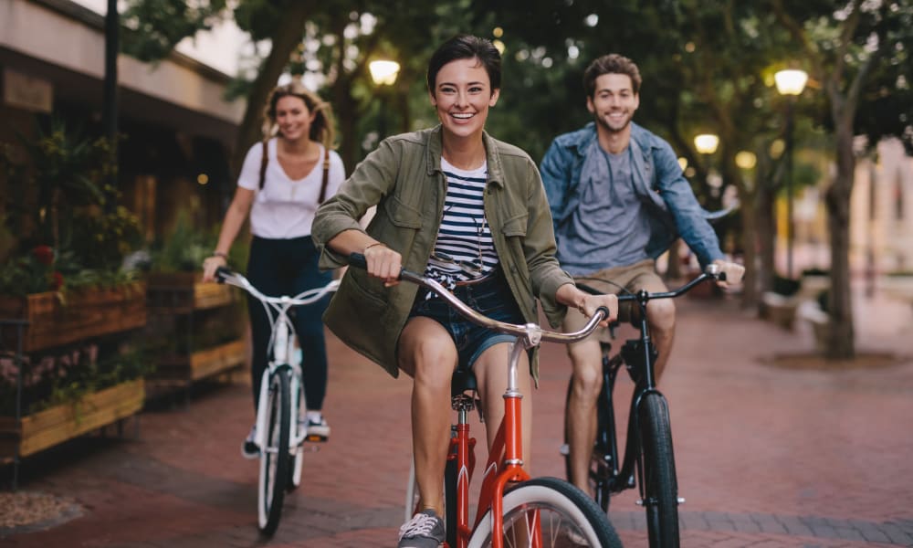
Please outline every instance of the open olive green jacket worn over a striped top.
M573 280L555 258L551 212L539 170L519 148L488 133L482 139L488 159L485 216L510 292L525 321L539 321L538 297L551 325L558 326L567 309L555 301L555 293ZM398 251L404 269L425 272L444 215L446 176L441 171L441 150L440 126L381 142L317 211L311 236L320 251L320 268L347 264L326 244L345 230L362 230L358 219L376 204L377 212L365 231ZM342 342L395 377L399 374L396 344L417 290L407 282L384 288L382 280L364 270L347 269L323 320ZM530 366L537 376L536 353L530 355Z

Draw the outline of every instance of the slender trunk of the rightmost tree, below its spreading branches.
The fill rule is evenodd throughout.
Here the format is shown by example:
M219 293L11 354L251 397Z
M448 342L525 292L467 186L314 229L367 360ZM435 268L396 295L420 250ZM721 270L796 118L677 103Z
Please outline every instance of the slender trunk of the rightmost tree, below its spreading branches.
M827 303L830 330L824 355L831 360L849 360L855 356L849 266L849 202L853 190L855 153L853 119L845 120L848 122L836 127L837 173L825 195L827 225L831 233L831 290Z

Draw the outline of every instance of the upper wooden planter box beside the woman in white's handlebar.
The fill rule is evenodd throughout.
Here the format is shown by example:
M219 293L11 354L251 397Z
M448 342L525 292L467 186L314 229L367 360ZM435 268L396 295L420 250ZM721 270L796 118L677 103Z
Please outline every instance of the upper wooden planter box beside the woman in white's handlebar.
M146 279L148 304L157 312L187 314L235 302L236 292L222 283L204 283L196 272L152 273Z

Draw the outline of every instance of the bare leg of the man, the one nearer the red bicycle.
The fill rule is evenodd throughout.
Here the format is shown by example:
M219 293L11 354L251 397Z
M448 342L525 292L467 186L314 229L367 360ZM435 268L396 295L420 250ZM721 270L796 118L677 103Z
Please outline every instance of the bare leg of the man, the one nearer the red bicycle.
M571 344L568 354L573 366L571 397L565 417L571 451L571 482L583 492L593 495L589 470L596 440L596 400L603 387L603 356L599 341L594 337Z

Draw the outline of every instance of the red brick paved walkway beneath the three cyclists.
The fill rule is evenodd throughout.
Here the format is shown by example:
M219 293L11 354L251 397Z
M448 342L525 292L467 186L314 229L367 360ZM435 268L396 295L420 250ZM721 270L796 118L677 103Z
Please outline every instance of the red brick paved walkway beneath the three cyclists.
M679 301L669 399L687 547L913 546L913 309L856 308L860 351L887 366L780 367L810 351L730 300ZM60 523L0 529L4 548L392 546L409 469L410 382L330 338L331 442L306 455L276 536L256 527L257 465L239 456L251 422L246 385L147 410L138 439L88 437L29 459L21 488L73 502ZM560 476L563 349L543 354L532 466ZM624 388L624 386L623 386ZM477 431L481 436L481 430ZM483 457L483 456L480 456ZM479 458L482 460L482 458ZM645 546L635 493L613 502L625 546Z

